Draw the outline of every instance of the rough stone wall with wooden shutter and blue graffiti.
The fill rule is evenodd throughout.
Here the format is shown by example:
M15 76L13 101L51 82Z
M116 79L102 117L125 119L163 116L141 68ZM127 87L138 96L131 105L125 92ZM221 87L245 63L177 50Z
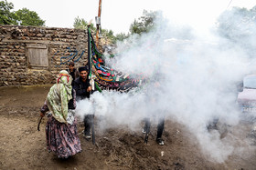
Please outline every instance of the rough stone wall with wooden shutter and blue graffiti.
M0 86L54 84L69 61L87 64L87 47L84 30L0 25Z

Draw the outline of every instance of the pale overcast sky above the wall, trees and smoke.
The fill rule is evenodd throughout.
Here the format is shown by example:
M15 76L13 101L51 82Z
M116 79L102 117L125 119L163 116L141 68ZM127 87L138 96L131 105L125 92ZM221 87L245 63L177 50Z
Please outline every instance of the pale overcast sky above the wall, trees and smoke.
M179 24L206 28L216 17L232 6L251 9L256 0L101 0L101 27L114 34L128 33L135 18L147 11L161 10L167 18ZM48 27L72 28L77 16L95 23L99 0L7 0L15 10L27 7L37 12ZM229 5L230 3L230 5ZM228 7L229 6L229 7Z

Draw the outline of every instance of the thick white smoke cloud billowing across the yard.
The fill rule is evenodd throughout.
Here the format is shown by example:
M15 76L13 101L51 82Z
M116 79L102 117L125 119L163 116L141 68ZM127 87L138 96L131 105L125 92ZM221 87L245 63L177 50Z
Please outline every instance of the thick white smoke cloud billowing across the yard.
M186 125L197 137L202 153L212 161L224 162L229 155L244 153L250 146L243 139L236 138L246 145L238 149L232 140L220 139L215 131L210 133L207 126L216 119L238 125L237 85L254 71L254 58L248 48L215 31L197 35L194 28L162 18L152 33L120 42L118 55L109 59L108 65L131 75L143 73L151 78L149 83L128 93L94 93L90 101L80 101L77 113L82 116L95 111L106 120L102 128L127 125L134 131L141 130L138 125L144 117L165 115ZM246 38L255 45L256 38Z

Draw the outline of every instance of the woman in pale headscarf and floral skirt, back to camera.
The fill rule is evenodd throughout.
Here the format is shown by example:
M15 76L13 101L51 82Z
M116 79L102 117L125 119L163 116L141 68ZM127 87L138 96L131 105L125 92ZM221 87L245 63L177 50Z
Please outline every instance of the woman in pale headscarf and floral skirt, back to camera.
M76 95L71 82L71 75L65 70L60 71L40 113L44 116L49 111L46 125L48 151L53 151L59 158L68 158L82 150L75 117Z

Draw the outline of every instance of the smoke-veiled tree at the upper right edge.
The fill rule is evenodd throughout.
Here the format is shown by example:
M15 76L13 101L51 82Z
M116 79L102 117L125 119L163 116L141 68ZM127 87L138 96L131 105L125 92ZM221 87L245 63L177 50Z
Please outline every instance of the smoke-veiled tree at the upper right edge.
M256 6L250 10L233 7L218 18L218 33L239 45L249 55L256 55Z

